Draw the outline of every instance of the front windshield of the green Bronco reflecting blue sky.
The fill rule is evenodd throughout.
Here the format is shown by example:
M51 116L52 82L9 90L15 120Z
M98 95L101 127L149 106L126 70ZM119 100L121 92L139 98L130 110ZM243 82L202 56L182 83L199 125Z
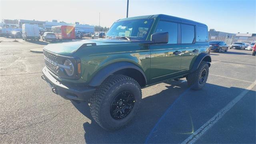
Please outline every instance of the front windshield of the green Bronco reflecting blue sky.
M153 21L153 19L138 19L115 22L106 36L112 38L125 36L134 40L146 40Z

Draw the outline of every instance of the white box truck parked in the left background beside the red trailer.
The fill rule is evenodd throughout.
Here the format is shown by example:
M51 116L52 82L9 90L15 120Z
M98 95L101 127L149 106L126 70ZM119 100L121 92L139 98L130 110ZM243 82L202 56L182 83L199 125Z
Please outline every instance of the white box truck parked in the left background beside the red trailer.
M22 24L22 39L23 40L39 40L39 28L37 24Z

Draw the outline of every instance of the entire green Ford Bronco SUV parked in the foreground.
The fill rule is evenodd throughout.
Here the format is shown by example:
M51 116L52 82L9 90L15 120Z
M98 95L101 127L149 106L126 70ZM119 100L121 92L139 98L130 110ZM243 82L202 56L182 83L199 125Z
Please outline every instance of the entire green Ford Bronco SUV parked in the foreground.
M141 88L186 78L192 89L208 78L211 57L205 24L163 14L117 20L105 38L48 44L42 78L52 92L87 101L107 130L128 124Z

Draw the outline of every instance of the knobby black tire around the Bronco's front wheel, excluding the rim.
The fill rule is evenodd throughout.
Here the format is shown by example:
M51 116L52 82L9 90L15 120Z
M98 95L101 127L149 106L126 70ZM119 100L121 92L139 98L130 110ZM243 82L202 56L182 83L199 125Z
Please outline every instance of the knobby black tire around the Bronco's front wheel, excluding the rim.
M133 94L134 106L126 117L116 120L110 114L110 106L114 98L124 90ZM90 112L92 118L102 128L116 130L126 126L132 120L138 112L141 99L141 88L136 80L121 74L111 75L102 82L90 99Z

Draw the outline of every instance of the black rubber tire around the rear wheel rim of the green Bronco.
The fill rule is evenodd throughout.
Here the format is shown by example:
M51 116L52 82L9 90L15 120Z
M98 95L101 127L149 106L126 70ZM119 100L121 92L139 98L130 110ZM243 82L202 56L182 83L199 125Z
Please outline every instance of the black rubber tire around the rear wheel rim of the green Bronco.
M201 76L201 72L204 69L206 69L206 78L205 78L204 82L202 84L200 84L199 79ZM208 66L207 62L202 61L196 71L194 71L186 76L186 79L188 81L188 86L191 87L191 89L193 89L193 90L201 89L206 84L208 74L209 74L209 66Z

